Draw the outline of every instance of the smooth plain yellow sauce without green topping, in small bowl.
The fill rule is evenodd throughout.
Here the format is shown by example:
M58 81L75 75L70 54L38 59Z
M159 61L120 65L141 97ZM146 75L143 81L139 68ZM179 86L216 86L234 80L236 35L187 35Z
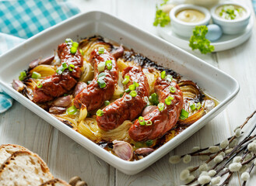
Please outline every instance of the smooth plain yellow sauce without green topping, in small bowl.
M195 9L184 9L176 17L183 22L201 22L205 19L205 14Z

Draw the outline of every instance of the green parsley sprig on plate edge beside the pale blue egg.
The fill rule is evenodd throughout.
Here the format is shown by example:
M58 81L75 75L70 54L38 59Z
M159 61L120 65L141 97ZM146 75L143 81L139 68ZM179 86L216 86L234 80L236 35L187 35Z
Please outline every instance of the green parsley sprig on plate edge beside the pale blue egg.
M200 50L201 53L212 53L214 51L214 46L211 42L205 38L206 33L208 33L207 26L195 26L193 30L193 35L189 40L189 47L192 50Z

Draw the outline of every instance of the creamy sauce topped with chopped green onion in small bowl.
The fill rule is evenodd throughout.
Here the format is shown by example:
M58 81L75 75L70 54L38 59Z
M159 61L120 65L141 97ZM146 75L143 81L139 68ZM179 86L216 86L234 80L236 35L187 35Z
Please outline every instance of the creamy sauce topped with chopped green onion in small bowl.
M216 9L216 15L222 19L240 19L246 15L246 11L240 5L222 5Z

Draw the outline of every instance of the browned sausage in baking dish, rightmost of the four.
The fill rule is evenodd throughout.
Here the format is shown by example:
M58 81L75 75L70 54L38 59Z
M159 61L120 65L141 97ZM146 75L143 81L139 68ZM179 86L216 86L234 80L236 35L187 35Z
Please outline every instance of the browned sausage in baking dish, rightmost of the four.
M174 93L170 92L170 86L176 88ZM155 140L163 136L168 130L172 129L180 117L181 109L183 107L183 95L180 87L175 81L167 81L158 77L155 83L155 91L159 96L160 102L163 102L165 108L160 112L159 108L153 110L148 115L144 116L145 121L150 120L151 126L141 126L139 119L129 129L129 135L132 140L146 141ZM165 104L165 99L171 96L174 98L170 105Z

